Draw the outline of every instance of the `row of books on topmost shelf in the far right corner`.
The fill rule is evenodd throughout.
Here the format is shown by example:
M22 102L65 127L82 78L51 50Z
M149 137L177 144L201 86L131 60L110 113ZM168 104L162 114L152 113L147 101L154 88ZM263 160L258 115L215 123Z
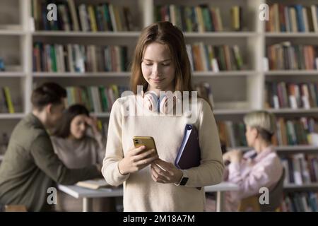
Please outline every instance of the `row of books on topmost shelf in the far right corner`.
M318 6L300 4L269 6L268 32L318 32Z

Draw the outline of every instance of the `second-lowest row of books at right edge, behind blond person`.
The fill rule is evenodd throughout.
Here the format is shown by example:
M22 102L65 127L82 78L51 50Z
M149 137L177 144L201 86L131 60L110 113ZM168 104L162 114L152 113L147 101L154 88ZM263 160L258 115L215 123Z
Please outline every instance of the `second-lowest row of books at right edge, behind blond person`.
M281 159L285 169L284 184L310 184L318 182L318 156L304 153Z

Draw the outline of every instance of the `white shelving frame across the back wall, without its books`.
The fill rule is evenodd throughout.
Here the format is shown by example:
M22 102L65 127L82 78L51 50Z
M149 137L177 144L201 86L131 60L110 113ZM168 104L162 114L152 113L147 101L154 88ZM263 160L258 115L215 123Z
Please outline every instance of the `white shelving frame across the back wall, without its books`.
M39 0L40 1L40 0ZM259 4L281 3L286 5L302 4L311 6L316 0L81 0L79 4L99 4L110 2L119 6L128 6L137 29L132 31L61 31L33 30L31 20L31 0L4 0L0 2L0 58L13 53L6 59L6 71L0 72L0 83L7 84L15 98L19 99L20 112L15 114L0 113L0 128L12 131L13 126L25 114L30 112L30 94L33 85L45 81L56 81L64 86L80 85L128 85L129 72L33 72L33 43L49 44L95 44L126 45L128 59L134 51L134 45L140 30L155 21L157 6L174 4L175 6L208 6L220 8L223 31L220 32L184 32L187 44L204 42L211 45L237 44L245 64L240 71L194 71L193 82L206 82L211 85L215 107L213 112L217 121L242 121L242 117L253 109L264 109L266 81L318 82L318 70L275 70L264 68L266 47L289 41L293 44L318 45L318 32L266 32L266 23L259 20ZM233 31L231 27L230 8L242 7L242 30ZM18 13L16 10L18 9ZM225 89L226 88L226 89ZM14 90L14 91L13 91ZM314 117L318 108L311 109L269 109L279 117ZM102 121L107 121L109 112L95 114ZM7 122L8 121L8 122ZM240 147L243 150L249 148ZM318 148L310 145L280 146L278 153L317 152ZM312 185L317 187L317 184Z

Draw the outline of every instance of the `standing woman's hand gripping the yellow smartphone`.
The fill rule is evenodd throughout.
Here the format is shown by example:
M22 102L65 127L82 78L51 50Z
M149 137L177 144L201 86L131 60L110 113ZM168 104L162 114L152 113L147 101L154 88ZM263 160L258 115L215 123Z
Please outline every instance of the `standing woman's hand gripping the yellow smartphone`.
M146 152L144 151L145 149L146 146L131 148L118 164L120 174L125 175L132 172L137 172L151 164L153 160L158 159L155 149L147 150Z

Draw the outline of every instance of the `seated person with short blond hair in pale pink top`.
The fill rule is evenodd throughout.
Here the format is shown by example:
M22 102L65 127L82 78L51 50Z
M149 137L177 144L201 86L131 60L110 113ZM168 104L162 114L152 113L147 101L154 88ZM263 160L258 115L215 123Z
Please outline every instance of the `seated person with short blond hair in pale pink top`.
M237 211L242 198L259 194L261 187L271 188L276 185L283 173L283 166L271 145L271 138L276 131L276 119L266 111L256 111L244 118L247 145L252 150L230 150L223 155L228 163L224 179L239 186L238 191L228 191L225 195L225 210ZM206 211L215 211L215 201L206 200Z

